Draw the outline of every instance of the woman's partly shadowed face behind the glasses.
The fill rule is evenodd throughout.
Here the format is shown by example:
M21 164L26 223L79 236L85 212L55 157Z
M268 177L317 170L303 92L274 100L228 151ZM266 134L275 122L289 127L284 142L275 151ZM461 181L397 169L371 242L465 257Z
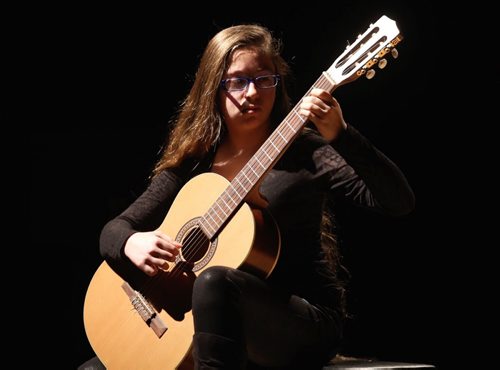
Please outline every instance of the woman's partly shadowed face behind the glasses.
M223 79L253 79L274 74L270 57L254 48L242 48L233 53ZM227 91L221 88L220 107L229 133L250 133L256 128L269 128L275 98L276 87L259 88L253 81L242 90Z

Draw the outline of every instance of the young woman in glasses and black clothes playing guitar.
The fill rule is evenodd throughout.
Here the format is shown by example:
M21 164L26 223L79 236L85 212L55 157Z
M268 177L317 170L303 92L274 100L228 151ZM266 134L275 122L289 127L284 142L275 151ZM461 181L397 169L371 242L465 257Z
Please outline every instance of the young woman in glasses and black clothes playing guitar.
M158 227L179 190L203 172L233 180L290 111L279 51L258 25L229 27L210 40L149 187L102 230L102 255L121 276L155 276L174 262L183 246ZM312 89L296 113L312 124L245 199L277 225L276 266L265 278L225 266L199 273L191 302L197 369L327 362L344 318L339 266L328 258L336 251L324 227L327 200L394 216L413 209L404 175L346 123L328 91Z

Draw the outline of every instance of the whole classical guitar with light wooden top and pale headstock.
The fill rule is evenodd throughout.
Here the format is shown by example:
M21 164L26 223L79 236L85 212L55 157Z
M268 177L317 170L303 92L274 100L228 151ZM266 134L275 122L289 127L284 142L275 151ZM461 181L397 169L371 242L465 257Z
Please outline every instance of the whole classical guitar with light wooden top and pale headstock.
M383 68L402 36L382 16L323 72L310 90L338 86ZM168 270L124 281L103 262L85 297L84 325L97 356L110 370L189 369L194 333L191 292L196 276L224 265L268 277L278 259L280 237L272 218L245 199L306 124L299 103L231 181L214 173L194 177L181 189L163 223L183 248Z

